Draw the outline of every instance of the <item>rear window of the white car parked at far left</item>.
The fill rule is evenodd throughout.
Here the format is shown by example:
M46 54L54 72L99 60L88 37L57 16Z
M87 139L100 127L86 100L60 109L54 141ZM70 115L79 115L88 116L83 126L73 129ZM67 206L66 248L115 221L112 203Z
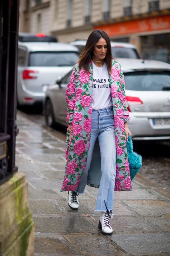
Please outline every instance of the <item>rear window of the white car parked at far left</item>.
M29 66L31 67L68 67L77 63L77 52L30 52Z

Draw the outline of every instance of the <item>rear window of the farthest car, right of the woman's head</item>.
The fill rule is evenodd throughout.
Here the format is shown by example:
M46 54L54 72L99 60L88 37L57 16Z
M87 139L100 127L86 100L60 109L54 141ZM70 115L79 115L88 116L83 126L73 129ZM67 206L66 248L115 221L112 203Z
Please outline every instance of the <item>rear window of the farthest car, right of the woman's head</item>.
M140 59L136 49L127 47L112 47L112 55L114 58Z

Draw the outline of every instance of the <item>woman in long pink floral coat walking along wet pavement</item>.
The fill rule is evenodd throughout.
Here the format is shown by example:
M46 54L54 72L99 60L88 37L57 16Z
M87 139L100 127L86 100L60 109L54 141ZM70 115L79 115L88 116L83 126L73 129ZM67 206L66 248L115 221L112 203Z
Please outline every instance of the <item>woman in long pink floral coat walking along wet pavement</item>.
M129 113L121 66L112 58L104 31L93 31L76 64L66 90L67 129L65 179L71 209L79 207L78 195L86 184L99 188L95 211L99 229L112 235L115 191L131 191L126 140Z

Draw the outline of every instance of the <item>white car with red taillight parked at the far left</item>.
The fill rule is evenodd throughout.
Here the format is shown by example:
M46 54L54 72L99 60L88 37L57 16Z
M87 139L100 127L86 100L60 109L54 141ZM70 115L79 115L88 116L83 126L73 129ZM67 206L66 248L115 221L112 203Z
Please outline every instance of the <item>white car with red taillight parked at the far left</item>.
M52 42L19 42L18 84L19 105L42 102L50 82L72 69L79 56L77 48Z

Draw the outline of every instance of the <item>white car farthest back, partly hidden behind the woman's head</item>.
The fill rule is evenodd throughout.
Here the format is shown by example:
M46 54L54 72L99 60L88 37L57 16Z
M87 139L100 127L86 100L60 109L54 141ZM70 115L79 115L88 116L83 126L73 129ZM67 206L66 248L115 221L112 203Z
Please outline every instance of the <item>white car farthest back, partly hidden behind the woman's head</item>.
M70 44L76 46L80 54L86 44L86 40L76 40L70 42ZM142 59L140 51L132 44L111 41L111 47L114 58Z

